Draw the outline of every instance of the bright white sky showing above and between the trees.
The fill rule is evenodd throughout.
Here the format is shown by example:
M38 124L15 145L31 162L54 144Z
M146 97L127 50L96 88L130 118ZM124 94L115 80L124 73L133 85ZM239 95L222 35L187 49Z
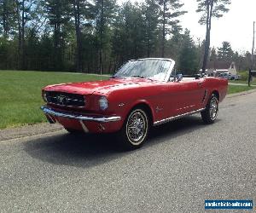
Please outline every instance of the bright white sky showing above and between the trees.
M125 0L118 0L125 2ZM143 0L131 0L142 2ZM212 23L211 46L218 47L223 41L231 43L232 49L238 51L252 51L253 20L256 21L256 0L232 0L230 12L221 19L214 19ZM188 11L181 18L183 28L188 28L195 38L204 39L205 26L198 24L199 14L195 13L196 0L183 0L184 9Z

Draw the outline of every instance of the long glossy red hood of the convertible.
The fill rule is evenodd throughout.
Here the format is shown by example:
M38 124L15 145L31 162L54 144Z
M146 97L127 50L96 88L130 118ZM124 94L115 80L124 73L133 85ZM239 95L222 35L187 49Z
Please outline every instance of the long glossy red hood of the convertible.
M104 81L56 84L46 87L45 90L80 95L92 95L94 93L108 95L113 90L146 86L152 83L151 80L146 78L110 78Z

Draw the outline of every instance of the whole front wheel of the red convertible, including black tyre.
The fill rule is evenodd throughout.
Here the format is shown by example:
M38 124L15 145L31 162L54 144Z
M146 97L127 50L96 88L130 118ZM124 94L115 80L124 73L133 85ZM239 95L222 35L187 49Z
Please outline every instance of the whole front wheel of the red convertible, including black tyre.
M143 146L148 137L148 115L142 108L132 110L125 120L119 139L125 149L134 150Z

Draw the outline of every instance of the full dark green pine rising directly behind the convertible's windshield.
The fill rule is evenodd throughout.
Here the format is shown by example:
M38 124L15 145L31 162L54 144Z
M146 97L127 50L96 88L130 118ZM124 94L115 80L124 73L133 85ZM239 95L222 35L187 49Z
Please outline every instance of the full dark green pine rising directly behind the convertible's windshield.
M119 9L119 18L114 24L114 29L112 45L113 55L116 55L116 66L126 60L146 55L146 26L139 5L124 3Z

